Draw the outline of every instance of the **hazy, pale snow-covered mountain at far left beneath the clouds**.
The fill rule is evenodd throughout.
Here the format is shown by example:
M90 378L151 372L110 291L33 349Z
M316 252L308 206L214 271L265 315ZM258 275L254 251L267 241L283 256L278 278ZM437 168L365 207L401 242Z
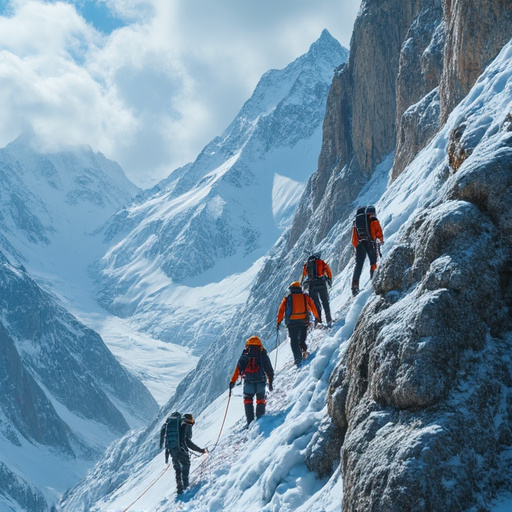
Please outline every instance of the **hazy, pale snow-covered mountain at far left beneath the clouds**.
M0 177L0 247L64 294L104 250L93 232L139 191L89 147L41 153L28 134L0 149Z

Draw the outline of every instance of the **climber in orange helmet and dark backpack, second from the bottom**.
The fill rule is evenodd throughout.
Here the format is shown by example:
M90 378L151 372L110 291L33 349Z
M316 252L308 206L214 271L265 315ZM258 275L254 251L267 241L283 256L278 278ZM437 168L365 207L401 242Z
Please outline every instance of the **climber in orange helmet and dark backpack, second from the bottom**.
M245 349L238 359L229 382L230 395L238 377L244 379L244 408L247 425L249 425L254 420L254 395L256 395L256 418L261 418L265 414L267 380L269 391L273 390L274 369L258 336L251 336L245 343Z

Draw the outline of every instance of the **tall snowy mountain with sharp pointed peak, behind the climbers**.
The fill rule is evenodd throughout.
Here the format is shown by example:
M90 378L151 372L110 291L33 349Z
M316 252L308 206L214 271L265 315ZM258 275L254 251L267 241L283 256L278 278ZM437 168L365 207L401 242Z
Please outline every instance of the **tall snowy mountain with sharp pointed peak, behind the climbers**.
M245 301L241 281L289 225L316 168L327 92L346 58L324 31L307 54L261 78L195 162L109 222L111 248L96 266L102 305L199 352L222 332L223 305Z

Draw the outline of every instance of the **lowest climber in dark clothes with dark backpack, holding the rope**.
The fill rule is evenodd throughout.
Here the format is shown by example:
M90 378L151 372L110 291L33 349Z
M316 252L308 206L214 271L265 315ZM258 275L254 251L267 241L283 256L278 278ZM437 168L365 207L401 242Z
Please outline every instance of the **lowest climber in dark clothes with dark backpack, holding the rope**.
M165 445L165 463L172 459L172 466L176 473L176 492L178 495L189 486L190 473L189 449L198 453L208 453L206 448L199 448L192 442L192 426L194 425L192 414L173 412L160 429L160 449Z

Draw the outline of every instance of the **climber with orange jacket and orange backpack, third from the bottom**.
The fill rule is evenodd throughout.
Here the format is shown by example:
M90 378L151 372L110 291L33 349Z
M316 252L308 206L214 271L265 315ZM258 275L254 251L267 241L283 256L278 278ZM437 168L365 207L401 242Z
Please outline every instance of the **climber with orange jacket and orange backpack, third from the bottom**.
M298 281L290 284L290 293L284 297L277 312L277 328L281 322L285 321L290 337L294 362L297 366L302 364L302 360L308 356L306 337L308 335L308 326L310 313L315 317L315 325L320 323L320 317L316 310L315 303L307 293L302 292L302 287Z

